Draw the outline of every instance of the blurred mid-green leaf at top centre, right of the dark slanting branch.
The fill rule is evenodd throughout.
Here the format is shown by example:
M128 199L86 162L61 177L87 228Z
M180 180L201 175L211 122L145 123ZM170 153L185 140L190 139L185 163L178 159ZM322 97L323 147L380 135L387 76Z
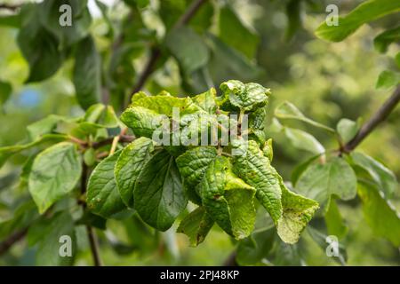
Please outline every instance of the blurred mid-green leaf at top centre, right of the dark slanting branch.
M219 37L229 46L241 51L247 58L253 59L259 44L259 36L248 27L244 26L236 12L230 6L220 9Z

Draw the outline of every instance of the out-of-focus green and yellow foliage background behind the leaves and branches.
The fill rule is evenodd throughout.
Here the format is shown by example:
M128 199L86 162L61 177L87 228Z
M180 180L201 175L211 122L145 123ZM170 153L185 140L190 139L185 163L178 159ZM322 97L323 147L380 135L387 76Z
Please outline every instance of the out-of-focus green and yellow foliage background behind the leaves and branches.
M267 1L213 0L201 6L186 26L168 33L191 1L92 1L89 32L101 62L102 100L122 110L126 99L148 59L157 47L154 72L143 85L148 93L162 90L179 96L218 87L228 79L261 83L272 90L269 120L273 109L291 101L308 117L335 128L340 118L363 121L388 98L392 90L376 90L380 72L396 70L398 45L391 44L381 54L373 48L373 38L385 28L398 24L398 14L364 25L340 43L316 38L315 29L326 17L327 4L337 4L345 14L361 1ZM21 1L1 1L21 4ZM14 12L0 9L9 17ZM12 93L0 97L0 146L27 138L26 126L48 114L77 116L84 113L75 96L74 56L65 56L58 71L44 81L25 83L29 67L17 43L19 28L0 18L0 81L10 83ZM164 36L168 35L165 39ZM158 49L158 46L161 46ZM70 52L70 51L68 51ZM154 54L153 54L154 55ZM2 90L0 90L2 91ZM8 98L5 98L8 97ZM318 129L294 124L312 133L326 148L337 145ZM400 177L400 108L367 138L359 150L372 155ZM276 169L285 179L310 154L291 146L281 134L274 138ZM0 220L12 216L27 193L18 182L19 165L29 153L17 154L0 170ZM394 206L400 209L399 194ZM343 240L350 265L399 265L399 249L376 237L362 217L359 201L338 202L348 234ZM60 208L62 208L60 204ZM65 206L65 205L64 205ZM235 243L214 226L198 248L189 248L176 227L156 233L139 218L122 222L108 220L100 231L101 255L108 265L137 264L223 264ZM91 264L85 235L76 230L83 248L76 264ZM0 240L4 236L0 235ZM304 234L299 264L336 264L324 250ZM35 264L36 248L24 241L0 256L0 264ZM291 252L285 252L290 254ZM294 261L279 264L298 264ZM297 257L297 256L296 256Z

